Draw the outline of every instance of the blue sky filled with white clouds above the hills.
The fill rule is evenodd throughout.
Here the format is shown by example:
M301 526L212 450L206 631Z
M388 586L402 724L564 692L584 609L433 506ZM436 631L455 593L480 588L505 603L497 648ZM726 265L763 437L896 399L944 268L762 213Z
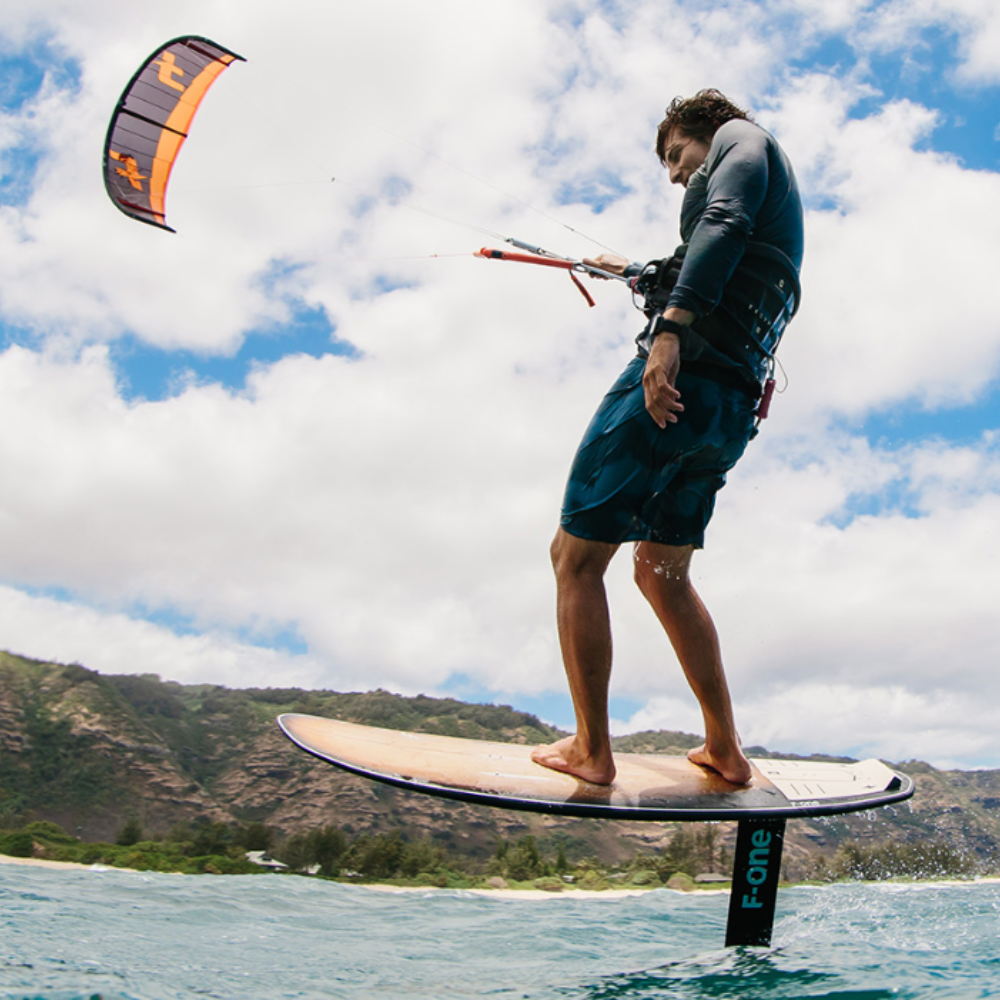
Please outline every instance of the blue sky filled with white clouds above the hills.
M247 61L198 111L170 234L101 157L184 34ZM653 138L703 87L806 208L783 391L693 563L743 740L1000 767L992 0L9 0L0 648L571 728L548 546L641 317L474 251L668 255ZM700 732L630 563L614 731Z

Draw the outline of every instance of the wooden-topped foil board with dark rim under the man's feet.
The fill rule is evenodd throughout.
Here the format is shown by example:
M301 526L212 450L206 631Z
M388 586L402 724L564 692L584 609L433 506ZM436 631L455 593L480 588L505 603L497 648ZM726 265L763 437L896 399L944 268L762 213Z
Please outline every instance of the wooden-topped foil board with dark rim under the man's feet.
M278 718L307 753L399 788L503 809L636 820L781 819L873 809L909 798L913 780L879 760L751 760L738 786L686 757L615 754L611 785L550 771L531 746L360 726L314 715Z

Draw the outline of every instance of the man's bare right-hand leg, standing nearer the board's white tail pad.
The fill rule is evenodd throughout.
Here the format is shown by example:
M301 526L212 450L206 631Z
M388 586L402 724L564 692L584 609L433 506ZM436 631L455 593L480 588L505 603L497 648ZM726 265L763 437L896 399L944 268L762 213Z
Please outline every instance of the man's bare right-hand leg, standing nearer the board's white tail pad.
M750 780L750 763L740 749L729 685L715 625L691 585L694 547L640 542L635 580L666 630L705 719L705 743L688 757L736 784Z

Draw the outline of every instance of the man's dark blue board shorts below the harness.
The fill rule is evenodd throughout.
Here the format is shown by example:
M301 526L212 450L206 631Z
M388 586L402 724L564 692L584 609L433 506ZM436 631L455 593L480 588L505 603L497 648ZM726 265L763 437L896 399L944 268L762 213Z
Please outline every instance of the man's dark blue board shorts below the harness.
M684 411L660 428L646 410L646 361L633 359L604 397L570 469L561 525L578 538L620 544L705 544L726 473L755 434L749 393L684 372Z

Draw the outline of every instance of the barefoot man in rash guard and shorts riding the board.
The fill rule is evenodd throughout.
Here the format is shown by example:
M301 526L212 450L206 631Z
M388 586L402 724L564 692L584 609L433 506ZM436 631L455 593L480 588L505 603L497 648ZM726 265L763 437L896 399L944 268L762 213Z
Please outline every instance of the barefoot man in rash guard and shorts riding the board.
M701 705L705 742L688 757L750 780L711 616L691 585L715 494L756 432L762 382L798 305L802 205L784 152L715 90L675 99L657 130L670 181L686 188L683 243L640 275L649 323L577 452L552 544L563 662L576 733L533 759L586 781L615 777L608 729L611 627L604 574L635 543L635 579Z

